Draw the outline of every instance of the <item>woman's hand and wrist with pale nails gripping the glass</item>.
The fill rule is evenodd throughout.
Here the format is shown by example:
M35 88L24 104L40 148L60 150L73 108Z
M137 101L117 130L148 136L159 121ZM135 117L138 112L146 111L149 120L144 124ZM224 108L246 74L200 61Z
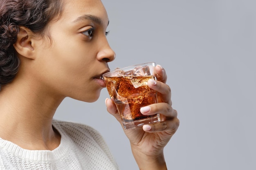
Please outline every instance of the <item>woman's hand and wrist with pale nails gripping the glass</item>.
M143 107L140 111L144 115L161 113L161 122L124 130L130 140L133 155L141 169L146 169L146 165L149 166L148 162L152 161L155 165L165 165L164 146L166 146L180 124L179 119L177 119L177 111L171 107L171 89L165 84L167 79L166 72L159 65L155 67L155 72L157 73L157 81L149 80L148 86L158 92L158 103ZM106 106L108 112L115 116L122 125L121 117L114 102L111 99L106 99ZM159 165L156 166L158 169L160 169ZM149 167L154 169L153 165Z

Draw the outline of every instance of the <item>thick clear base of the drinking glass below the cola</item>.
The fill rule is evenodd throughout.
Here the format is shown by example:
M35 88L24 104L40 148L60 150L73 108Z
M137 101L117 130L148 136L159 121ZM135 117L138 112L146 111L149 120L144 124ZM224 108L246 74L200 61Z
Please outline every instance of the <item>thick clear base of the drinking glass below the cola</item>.
M130 120L130 121L123 120L123 125L124 125L124 129L133 129L133 128L137 128L139 126L143 126L145 124L153 124L153 123L156 123L159 121L161 121L160 115L156 114L156 115L146 118L146 119Z

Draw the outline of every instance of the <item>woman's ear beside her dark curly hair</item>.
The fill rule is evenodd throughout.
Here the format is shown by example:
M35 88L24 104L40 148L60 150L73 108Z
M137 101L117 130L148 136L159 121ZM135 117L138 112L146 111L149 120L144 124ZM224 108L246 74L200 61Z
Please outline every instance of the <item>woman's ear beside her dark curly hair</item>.
M20 26L20 31L13 47L20 55L34 59L33 37L31 35L31 31L27 27Z

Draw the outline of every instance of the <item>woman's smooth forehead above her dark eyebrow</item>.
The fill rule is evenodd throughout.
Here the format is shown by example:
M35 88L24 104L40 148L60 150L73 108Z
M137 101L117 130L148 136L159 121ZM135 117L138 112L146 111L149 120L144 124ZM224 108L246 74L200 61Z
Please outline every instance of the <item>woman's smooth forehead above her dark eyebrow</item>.
M96 16L103 22L108 22L108 15L101 0L64 0L60 20L76 22L83 19L83 15Z

